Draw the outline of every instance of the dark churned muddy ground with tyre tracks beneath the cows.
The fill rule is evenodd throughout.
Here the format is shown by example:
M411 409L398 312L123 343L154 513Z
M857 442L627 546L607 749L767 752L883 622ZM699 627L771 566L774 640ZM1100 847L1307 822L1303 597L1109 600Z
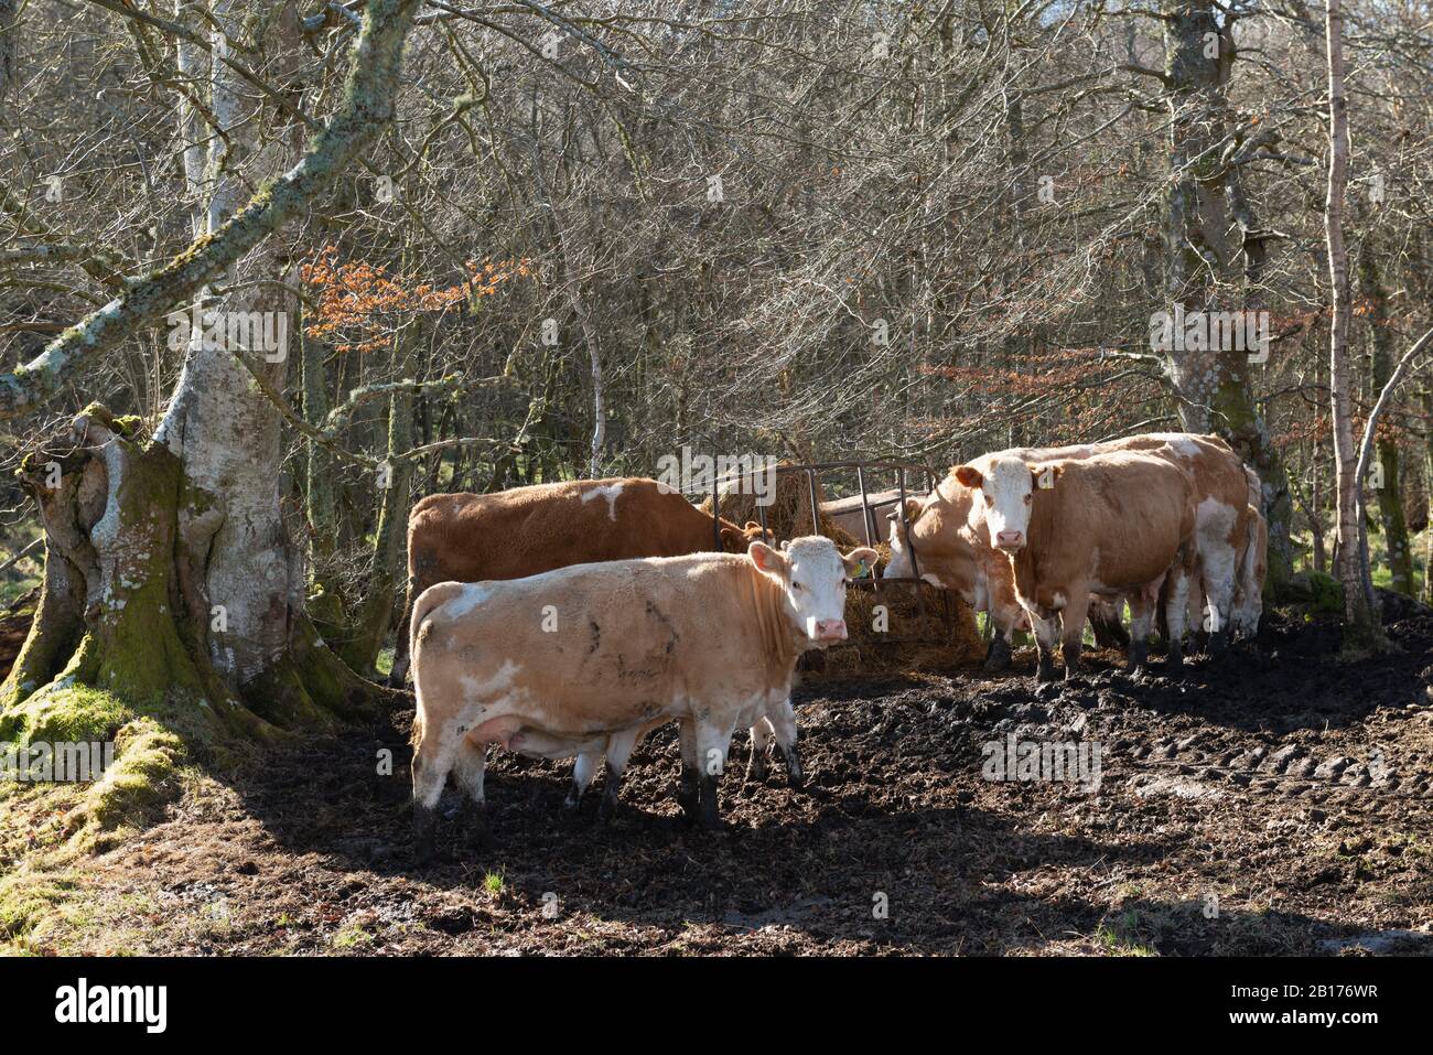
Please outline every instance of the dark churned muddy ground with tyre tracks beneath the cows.
M431 867L401 801L408 711L193 788L83 869L83 927L33 950L1426 955L1433 616L1390 631L1401 651L1340 665L1336 626L1271 625L1148 684L1109 655L1037 687L1027 654L995 678L808 681L807 791L780 764L742 788L738 737L721 834L676 820L672 728L608 826L596 796L562 817L566 765L499 754L492 844L450 818ZM1007 734L1098 743L1098 790L984 778Z

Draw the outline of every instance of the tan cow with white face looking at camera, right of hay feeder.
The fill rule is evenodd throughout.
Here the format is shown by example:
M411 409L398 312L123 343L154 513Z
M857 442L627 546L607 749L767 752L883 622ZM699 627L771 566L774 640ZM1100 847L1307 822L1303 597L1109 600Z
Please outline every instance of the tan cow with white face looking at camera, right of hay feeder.
M980 492L972 516L1010 562L1035 628L1039 681L1055 677L1058 638L1066 677L1079 669L1091 595L1129 603L1129 669L1138 672L1166 579L1169 664L1179 665L1197 572L1198 500L1187 469L1139 452L1040 463L987 454L959 466L956 479Z

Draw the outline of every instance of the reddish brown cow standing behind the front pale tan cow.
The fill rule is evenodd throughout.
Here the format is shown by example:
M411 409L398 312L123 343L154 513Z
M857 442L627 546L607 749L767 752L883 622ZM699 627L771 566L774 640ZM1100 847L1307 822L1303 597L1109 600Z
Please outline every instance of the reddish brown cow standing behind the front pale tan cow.
M722 549L744 553L761 526L721 520ZM408 513L408 596L438 582L523 579L567 565L685 556L712 549L712 517L645 477L563 480L494 495L428 495ZM404 619L407 625L407 619ZM408 671L398 635L388 681Z

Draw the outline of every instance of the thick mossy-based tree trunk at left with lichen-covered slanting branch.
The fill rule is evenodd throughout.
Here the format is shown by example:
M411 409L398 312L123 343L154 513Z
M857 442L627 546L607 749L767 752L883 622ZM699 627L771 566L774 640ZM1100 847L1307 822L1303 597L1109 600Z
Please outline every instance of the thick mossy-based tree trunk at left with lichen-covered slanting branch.
M264 235L377 130L355 115L391 113L411 7L411 0L371 0L344 108L292 168L297 129L261 143L258 132L269 125L254 112L258 97L212 63L211 112L226 128L232 153L212 155L202 173L191 163L192 149L183 153L191 186L202 183L209 195L193 212L203 237L179 261L129 284L30 368L0 377L0 413L20 413L56 391L80 358L76 348L95 354L122 328L152 321L191 292L203 298L196 278L236 280L222 302L231 317L289 312L288 294L271 281L289 265ZM214 11L221 24L245 14L232 4ZM265 43L299 47L294 4L274 11L278 24L268 26ZM196 70L192 50L179 62ZM282 80L284 57L269 66L268 76ZM383 99L374 97L375 85ZM191 142L188 109L181 130ZM219 138L214 142L225 149ZM244 206L241 221L226 224L242 204L241 163L255 185L288 172ZM222 261L235 261L235 274L216 274ZM248 357L281 387L287 355L278 347L268 355L228 348L229 333L216 345L189 344L150 441L138 420L115 420L92 406L73 420L72 436L46 443L24 463L23 483L46 533L44 589L0 685L0 737L116 741L119 760L85 810L86 823L102 829L149 816L140 808L150 803L146 793L163 784L173 794L173 765L186 754L202 761L231 735L373 715L387 697L344 667L304 609L304 563L281 509L279 416L236 358Z

